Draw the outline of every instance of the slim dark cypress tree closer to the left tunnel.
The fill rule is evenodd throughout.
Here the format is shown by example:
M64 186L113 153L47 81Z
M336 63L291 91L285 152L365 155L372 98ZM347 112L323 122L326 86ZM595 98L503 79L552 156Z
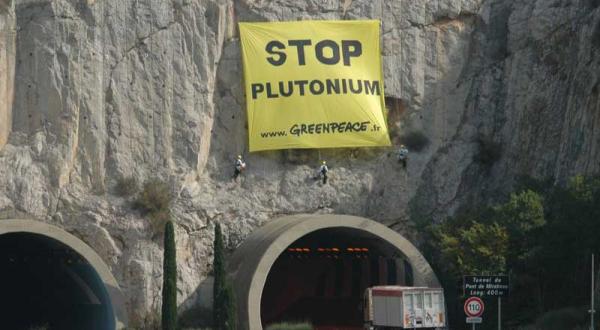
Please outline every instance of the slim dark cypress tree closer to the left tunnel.
M173 222L165 224L162 292L162 328L177 329L177 260Z

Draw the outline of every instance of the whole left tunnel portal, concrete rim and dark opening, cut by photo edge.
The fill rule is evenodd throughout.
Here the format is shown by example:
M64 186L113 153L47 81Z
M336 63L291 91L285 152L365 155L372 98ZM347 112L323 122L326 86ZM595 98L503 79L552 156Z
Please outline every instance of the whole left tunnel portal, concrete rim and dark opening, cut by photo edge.
M108 266L91 247L58 227L0 220L0 269L3 328L127 326L123 295Z

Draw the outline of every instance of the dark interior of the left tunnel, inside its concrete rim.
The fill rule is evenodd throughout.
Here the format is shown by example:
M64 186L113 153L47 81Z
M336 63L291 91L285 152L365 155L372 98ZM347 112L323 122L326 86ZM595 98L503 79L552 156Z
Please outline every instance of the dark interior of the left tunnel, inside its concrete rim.
M112 330L104 284L77 252L31 233L0 235L2 328Z

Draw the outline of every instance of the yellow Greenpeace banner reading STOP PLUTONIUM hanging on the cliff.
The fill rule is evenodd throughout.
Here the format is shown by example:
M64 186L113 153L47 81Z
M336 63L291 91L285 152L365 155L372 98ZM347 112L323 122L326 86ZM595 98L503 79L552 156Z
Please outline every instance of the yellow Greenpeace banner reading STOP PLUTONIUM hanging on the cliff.
M250 151L390 145L379 21L239 24Z

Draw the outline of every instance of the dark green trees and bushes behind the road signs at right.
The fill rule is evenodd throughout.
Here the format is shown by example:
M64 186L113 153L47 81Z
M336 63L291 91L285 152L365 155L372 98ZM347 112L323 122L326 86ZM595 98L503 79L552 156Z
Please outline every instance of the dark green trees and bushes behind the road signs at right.
M600 255L598 219L600 178L577 176L565 186L524 179L504 203L428 226L424 251L446 290L450 321L464 322L462 276L473 274L510 274L502 304L508 323L581 320L576 311L589 305L591 254ZM493 309L496 300L487 303Z

